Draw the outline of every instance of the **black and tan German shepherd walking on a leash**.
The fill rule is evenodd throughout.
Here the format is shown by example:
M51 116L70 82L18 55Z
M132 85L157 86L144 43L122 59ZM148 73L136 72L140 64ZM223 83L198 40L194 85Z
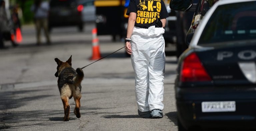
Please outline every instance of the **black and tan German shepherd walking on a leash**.
M81 98L81 82L84 77L83 70L81 68L77 68L74 70L71 67L71 57L66 61L62 62L58 58L54 60L57 62L57 72L55 73L58 78L58 87L60 91L60 98L63 102L64 106L64 121L69 121L69 103L68 100L74 97L76 102L76 107L74 109L74 113L77 118L80 118L80 98Z

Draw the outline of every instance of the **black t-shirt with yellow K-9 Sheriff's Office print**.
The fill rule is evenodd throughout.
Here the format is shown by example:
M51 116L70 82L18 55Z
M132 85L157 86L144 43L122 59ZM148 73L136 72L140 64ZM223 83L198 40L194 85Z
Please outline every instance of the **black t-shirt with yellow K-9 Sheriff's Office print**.
M155 26L157 18L168 18L168 13L163 0L130 0L126 15L136 13L136 27L149 28Z

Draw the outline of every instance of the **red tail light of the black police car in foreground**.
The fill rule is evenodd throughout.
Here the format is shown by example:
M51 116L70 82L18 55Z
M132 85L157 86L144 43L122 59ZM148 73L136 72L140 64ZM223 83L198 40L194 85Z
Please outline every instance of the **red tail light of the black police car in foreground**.
M181 66L180 80L182 82L211 81L196 53L188 55Z

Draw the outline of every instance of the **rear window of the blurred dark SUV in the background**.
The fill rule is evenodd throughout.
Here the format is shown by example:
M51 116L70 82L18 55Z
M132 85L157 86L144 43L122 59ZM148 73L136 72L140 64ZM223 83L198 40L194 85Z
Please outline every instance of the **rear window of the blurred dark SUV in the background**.
M65 7L72 7L76 6L77 1L76 0L51 0L50 6L56 7L56 6L65 6Z

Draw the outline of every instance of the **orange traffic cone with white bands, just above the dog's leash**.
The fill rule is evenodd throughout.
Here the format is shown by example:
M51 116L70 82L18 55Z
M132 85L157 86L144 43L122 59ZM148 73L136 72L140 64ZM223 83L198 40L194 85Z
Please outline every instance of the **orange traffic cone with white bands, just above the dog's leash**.
M97 28L92 30L92 57L91 60L100 59L100 46L99 46L99 39L97 37Z

